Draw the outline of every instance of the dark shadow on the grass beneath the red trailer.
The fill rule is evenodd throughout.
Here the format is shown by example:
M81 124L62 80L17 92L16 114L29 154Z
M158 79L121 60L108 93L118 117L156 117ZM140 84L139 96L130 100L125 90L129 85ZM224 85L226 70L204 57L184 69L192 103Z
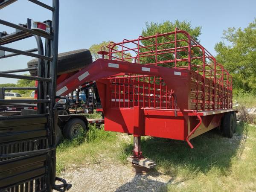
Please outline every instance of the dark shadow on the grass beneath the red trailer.
M213 166L225 174L230 169L232 158L241 155L246 138L247 128L239 124L232 139L223 137L218 129L195 137L191 140L194 149L184 141L145 137L142 151L144 157L157 162L157 170L171 177L177 176L181 169L188 174L207 174ZM129 144L123 150L128 156L131 149L132 144Z

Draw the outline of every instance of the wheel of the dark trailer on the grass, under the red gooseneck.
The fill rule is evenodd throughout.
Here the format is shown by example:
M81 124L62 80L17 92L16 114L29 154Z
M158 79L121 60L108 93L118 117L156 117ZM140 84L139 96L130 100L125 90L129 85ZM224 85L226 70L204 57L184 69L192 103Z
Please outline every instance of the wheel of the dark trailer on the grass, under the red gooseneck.
M81 134L82 130L87 130L87 126L84 121L78 118L70 119L64 126L63 135L68 139L73 139Z

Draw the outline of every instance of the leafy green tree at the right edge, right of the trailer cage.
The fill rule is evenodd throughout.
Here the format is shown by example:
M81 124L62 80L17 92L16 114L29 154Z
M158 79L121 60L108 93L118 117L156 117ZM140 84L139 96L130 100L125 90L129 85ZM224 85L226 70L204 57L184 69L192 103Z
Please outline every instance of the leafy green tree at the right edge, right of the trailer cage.
M228 44L215 45L216 58L233 76L235 93L256 94L256 19L244 29L228 28L223 35Z

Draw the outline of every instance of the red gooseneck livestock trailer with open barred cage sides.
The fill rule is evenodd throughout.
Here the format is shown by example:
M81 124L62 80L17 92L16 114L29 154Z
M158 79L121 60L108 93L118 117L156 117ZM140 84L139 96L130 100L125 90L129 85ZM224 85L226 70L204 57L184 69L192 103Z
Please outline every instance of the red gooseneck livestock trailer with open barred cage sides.
M232 137L232 77L189 33L124 39L107 50L60 82L57 95L95 80L105 130L133 134L134 157L143 157L141 136L184 140L191 148L190 139L213 128Z

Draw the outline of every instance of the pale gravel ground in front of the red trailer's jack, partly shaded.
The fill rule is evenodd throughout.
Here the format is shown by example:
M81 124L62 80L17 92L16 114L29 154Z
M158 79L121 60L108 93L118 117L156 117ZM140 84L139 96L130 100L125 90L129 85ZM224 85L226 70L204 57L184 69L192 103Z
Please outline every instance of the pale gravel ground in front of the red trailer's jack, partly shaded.
M61 177L72 183L70 192L156 192L166 191L172 177L156 170L136 175L131 166L103 160L98 164L83 163L70 166Z

